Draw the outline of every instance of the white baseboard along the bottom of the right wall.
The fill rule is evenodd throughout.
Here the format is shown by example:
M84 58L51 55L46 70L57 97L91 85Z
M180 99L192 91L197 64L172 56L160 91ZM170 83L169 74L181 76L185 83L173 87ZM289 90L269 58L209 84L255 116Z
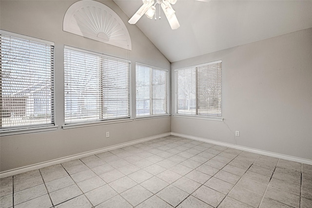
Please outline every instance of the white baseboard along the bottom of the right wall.
M293 156L289 156L289 155L278 154L278 153L274 153L274 152L268 152L268 151L249 148L249 147L245 147L245 146L239 146L239 145L232 145L232 144L223 143L223 142L217 142L214 140L204 139L204 138L200 138L200 137L194 137L194 136L185 135L185 134L179 134L179 133L175 133L175 132L171 132L171 135L178 136L178 137L184 137L186 139L192 139L192 140L197 140L197 141L201 141L201 142L211 143L214 145L232 147L235 149L240 149L240 150L244 150L244 151L248 151L248 152L254 152L257 154L262 154L262 155L267 155L267 156L276 157L276 158L280 158L280 159L285 159L285 160L290 160L290 161L294 161L294 162L312 165L312 160L308 160L308 159L304 159L304 158L298 158L298 157L293 157Z

